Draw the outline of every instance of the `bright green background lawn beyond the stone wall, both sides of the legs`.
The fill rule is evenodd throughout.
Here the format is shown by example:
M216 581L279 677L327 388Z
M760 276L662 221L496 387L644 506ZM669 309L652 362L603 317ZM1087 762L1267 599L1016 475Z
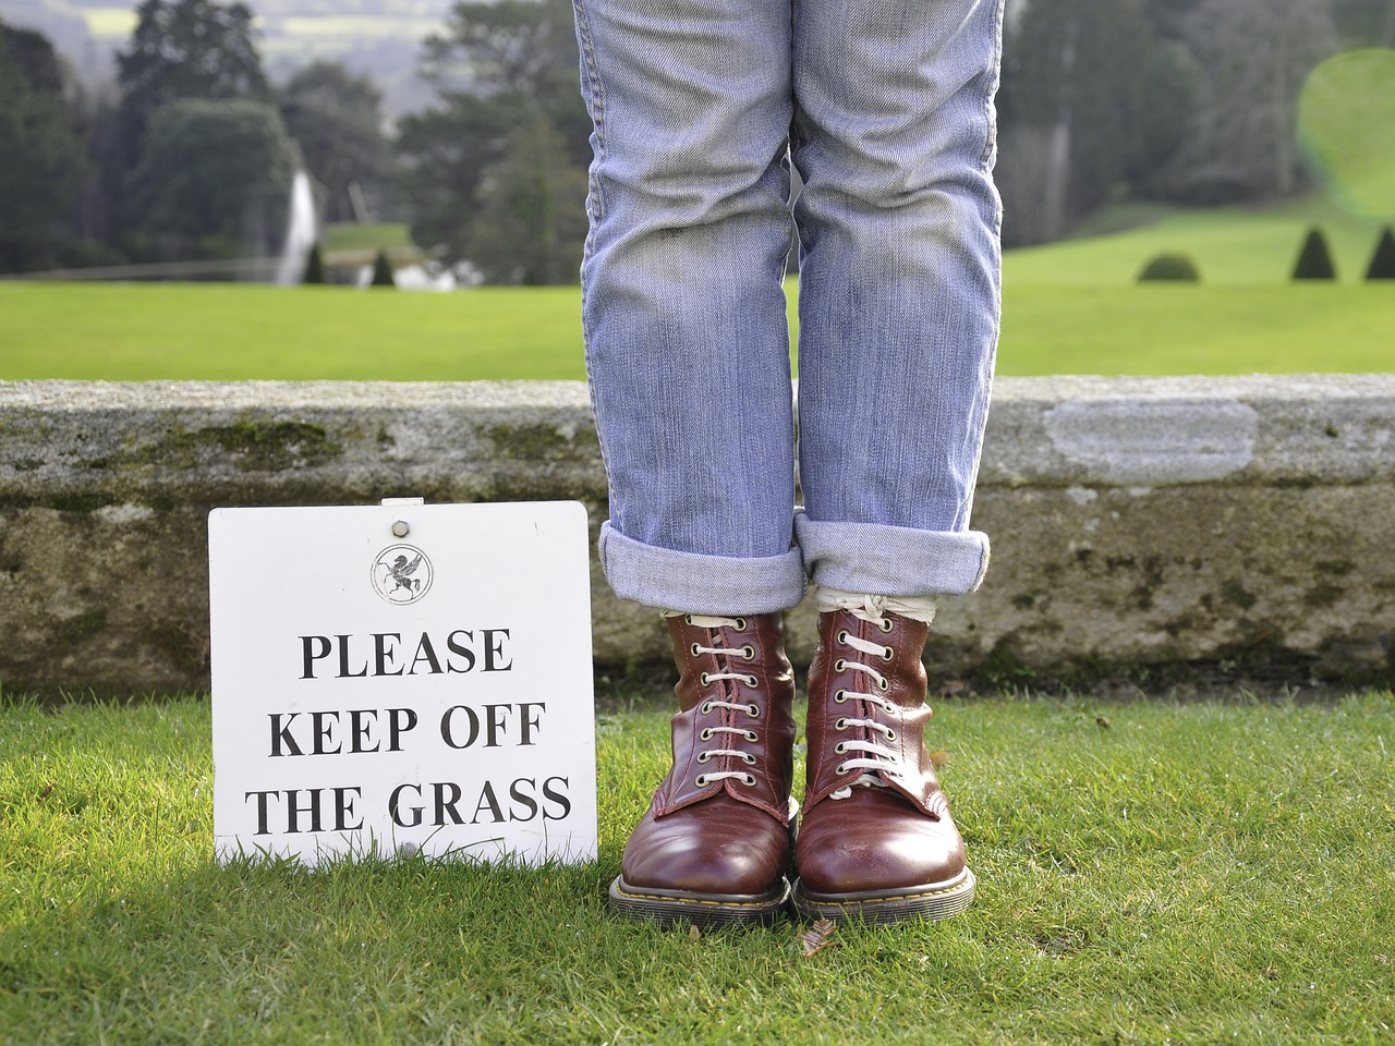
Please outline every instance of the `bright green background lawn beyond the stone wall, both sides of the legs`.
M1314 220L1341 280L1295 286ZM1120 225L1133 227L1110 232ZM1359 279L1378 229L1318 204L1103 212L1094 236L1006 255L999 374L1388 371L1395 282ZM1204 282L1134 283L1165 250L1191 254ZM0 379L580 379L583 367L576 287L0 283Z

